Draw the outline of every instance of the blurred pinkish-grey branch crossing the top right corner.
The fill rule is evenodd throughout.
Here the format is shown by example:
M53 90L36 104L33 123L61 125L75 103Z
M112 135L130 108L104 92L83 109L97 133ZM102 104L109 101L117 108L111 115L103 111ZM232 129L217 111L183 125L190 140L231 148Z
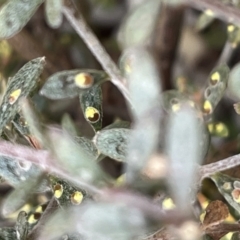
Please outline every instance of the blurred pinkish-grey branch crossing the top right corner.
M218 0L185 0L185 2L198 10L212 10L217 18L225 22L240 24L239 9L223 4Z

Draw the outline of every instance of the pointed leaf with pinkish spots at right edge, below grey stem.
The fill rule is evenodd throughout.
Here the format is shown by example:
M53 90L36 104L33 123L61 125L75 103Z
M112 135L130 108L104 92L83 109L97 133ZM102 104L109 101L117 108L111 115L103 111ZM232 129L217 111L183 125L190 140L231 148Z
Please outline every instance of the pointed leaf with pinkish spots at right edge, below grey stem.
M240 213L240 198L239 189L234 188L233 183L239 181L237 178L232 178L222 173L216 173L211 176L211 179L216 184L218 191L227 200L227 202Z

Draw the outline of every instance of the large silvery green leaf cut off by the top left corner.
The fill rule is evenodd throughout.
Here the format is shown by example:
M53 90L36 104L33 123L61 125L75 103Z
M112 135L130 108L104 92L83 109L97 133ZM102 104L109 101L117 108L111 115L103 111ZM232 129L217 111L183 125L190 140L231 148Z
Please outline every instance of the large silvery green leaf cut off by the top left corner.
M0 10L0 39L14 36L27 24L43 0L9 0Z

